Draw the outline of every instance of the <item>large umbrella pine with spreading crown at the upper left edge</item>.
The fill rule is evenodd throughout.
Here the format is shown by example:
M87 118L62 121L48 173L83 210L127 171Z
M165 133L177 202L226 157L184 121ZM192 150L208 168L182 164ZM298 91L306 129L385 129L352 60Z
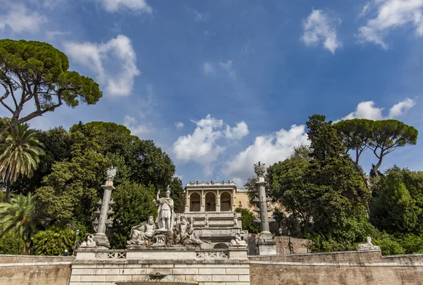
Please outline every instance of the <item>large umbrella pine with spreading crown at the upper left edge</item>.
M11 112L10 128L54 111L63 103L76 107L80 101L95 104L102 97L94 80L68 68L66 54L50 44L0 40L0 84L5 90L0 102ZM21 116L25 103L31 101L35 111Z

